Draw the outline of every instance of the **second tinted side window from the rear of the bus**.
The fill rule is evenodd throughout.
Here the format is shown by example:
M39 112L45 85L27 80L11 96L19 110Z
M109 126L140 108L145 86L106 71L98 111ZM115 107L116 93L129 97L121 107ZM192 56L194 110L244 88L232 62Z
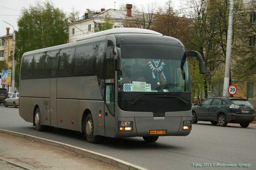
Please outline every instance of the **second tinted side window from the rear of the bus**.
M45 67L45 54L37 53L34 55L33 78L43 78Z

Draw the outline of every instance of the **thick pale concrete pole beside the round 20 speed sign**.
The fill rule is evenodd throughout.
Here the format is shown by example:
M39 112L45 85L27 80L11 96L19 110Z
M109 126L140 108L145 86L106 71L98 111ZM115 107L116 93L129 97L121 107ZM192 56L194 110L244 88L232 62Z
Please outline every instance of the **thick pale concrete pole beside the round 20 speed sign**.
M229 74L230 74L231 44L232 44L233 9L234 9L234 0L230 0L225 75L224 75L224 83L223 83L223 96L227 96L227 97L229 94L228 87L229 87Z

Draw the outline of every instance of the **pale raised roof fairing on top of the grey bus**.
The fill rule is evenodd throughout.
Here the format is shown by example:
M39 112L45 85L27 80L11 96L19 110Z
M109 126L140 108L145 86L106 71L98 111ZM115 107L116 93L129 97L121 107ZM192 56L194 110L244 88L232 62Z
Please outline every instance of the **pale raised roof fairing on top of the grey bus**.
M146 30L146 29L141 29L141 28L112 28L109 30L99 31L99 32L95 32L92 34L81 36L81 37L77 38L76 41L86 40L89 38L99 37L99 36L103 36L103 35L117 34L117 33L141 33L141 34L163 35L156 31Z

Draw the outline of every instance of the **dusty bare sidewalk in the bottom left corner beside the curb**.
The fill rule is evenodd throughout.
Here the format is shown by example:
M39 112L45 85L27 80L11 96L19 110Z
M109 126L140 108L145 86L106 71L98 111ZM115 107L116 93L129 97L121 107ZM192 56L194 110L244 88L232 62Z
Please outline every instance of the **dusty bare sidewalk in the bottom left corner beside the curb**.
M30 169L123 170L67 149L0 133L0 158ZM0 169L21 169L0 160Z

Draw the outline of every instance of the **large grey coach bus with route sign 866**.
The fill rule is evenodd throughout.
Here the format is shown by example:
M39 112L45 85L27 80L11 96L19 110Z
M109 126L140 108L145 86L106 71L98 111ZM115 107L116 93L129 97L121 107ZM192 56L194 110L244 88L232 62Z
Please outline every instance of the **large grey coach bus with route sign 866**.
M76 42L29 51L20 67L19 115L38 131L102 136L187 136L191 131L188 56L178 39L137 28L114 28Z

